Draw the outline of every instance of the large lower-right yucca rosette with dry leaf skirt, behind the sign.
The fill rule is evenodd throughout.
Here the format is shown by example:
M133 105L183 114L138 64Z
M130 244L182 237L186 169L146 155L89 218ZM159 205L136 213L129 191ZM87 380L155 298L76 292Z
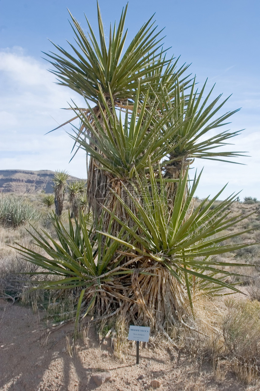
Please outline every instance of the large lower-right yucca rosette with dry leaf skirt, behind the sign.
M133 256L134 254L142 256L136 266L136 283L139 284L140 288L138 294L145 292L143 310L149 308L148 312L152 325L156 320L157 324L160 325L166 319L170 320L174 314L176 287L168 290L168 292L166 292L167 289L164 289L163 295L159 289L147 289L147 287L157 286L161 279L168 283L168 287L178 285L177 291L181 291L183 286L186 285L186 293L191 308L191 286L194 290L196 285L199 285L200 289L208 293L217 292L223 288L239 291L237 287L226 282L226 279L231 275L239 274L231 273L225 270L225 267L241 267L249 266L249 264L220 262L215 257L229 251L251 246L252 243L245 244L241 242L240 244L230 245L225 244L225 241L233 237L239 237L239 235L252 229L238 233L227 233L228 228L248 216L245 217L243 214L233 215L230 212L230 206L237 198L237 194L220 202L214 209L211 208L225 187L210 201L207 197L195 210L193 209L193 197L201 173L198 179L195 175L193 185L189 188L187 194L188 171L186 170L183 179L182 175L180 176L173 206L169 202L169 188L167 188L161 171L159 170L156 178L150 164L149 173L149 181L145 174L139 178L141 202L126 188L126 192L138 211L137 213L133 213L119 195L114 193L118 202L124 206L126 212L133 219L135 223L134 231L129 228L126 221L120 220L107 209L107 212L129 233L132 240L125 242L108 232L103 232L103 235L126 246L129 251L133 251ZM157 179L159 179L159 183ZM137 230L138 234L136 233ZM150 273L138 276L140 271L150 271ZM163 283L160 282L159 284ZM163 289L163 285L161 285L161 289ZM136 292L133 291L133 294L136 294ZM138 301L137 297L136 300ZM158 307L158 303L160 303L160 307Z

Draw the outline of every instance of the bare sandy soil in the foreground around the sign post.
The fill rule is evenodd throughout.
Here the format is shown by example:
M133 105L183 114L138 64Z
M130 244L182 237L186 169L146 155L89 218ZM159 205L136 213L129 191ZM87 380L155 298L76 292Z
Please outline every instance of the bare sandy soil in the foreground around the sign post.
M133 346L122 361L111 352L109 343L98 343L94 326L84 342L78 341L71 358L66 335L71 335L73 324L51 333L44 345L43 318L44 311L33 314L32 308L0 300L1 391L144 390L152 380L159 382L161 390L260 390L260 383L245 386L231 372L218 382L209 361L200 364L163 346L141 346L139 365L135 364ZM110 372L111 377L97 386L92 376L100 372Z

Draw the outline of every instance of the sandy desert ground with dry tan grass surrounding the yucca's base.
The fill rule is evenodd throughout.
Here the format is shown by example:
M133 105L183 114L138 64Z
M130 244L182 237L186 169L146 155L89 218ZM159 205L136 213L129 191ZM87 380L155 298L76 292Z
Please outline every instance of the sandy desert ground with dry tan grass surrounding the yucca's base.
M47 209L41 204L41 194L29 197L28 201ZM256 230L244 234L241 240L259 240L259 203L234 203L232 207L232 213L256 211L241 223L244 228L254 226ZM46 215L35 224L54 234ZM29 286L24 282L28 277L15 273L35 271L9 247L14 242L34 246L26 229L30 227L0 227L0 296L4 299L17 296L25 285ZM1 299L0 389L143 390L157 380L164 390L256 391L260 387L260 304L253 300L259 298L260 249L248 249L228 254L229 258L256 265L241 268L240 273L248 276L241 279L244 295L234 294L226 300L226 296L212 298L194 292L196 321L183 316L168 334L152 335L149 344L141 347L139 366L135 364L134 343L127 341L123 319L116 323L112 318L99 325L85 322L73 344L73 323L66 323L75 312L73 292L65 296L33 292L22 296L20 303L26 306ZM231 282L237 282L238 277L233 278ZM63 325L52 327L61 321ZM92 376L101 371L110 371L111 378L97 387Z

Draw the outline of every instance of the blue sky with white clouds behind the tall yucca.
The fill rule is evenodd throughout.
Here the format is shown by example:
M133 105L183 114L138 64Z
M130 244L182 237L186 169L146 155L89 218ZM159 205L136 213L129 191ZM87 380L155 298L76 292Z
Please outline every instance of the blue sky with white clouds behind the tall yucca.
M110 21L119 19L124 2L100 0L105 32ZM81 97L53 82L48 63L41 57L53 50L47 38L68 48L73 41L67 8L86 29L84 12L97 31L96 1L0 0L0 169L67 169L86 177L83 151L69 163L73 140L64 130L44 135L69 118L60 110ZM258 1L161 1L129 0L126 27L130 40L154 13L164 29L164 47L180 56L180 64L191 63L190 72L201 85L208 77L214 95L232 94L224 111L242 108L228 128L246 129L233 139L233 150L249 151L240 158L246 165L195 161L203 176L198 196L214 195L225 183L223 193L232 192L260 199L260 75ZM66 128L70 131L70 127Z

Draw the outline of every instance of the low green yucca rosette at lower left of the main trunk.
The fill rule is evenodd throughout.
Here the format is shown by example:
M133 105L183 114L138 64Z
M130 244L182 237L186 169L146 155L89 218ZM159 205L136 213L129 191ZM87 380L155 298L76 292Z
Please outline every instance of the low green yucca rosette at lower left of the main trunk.
M40 255L19 244L17 248L25 260L38 265L49 276L45 281L35 280L33 289L74 289L74 292L78 289L75 331L81 306L83 308L85 306L83 316L87 315L92 307L95 316L100 319L110 317L111 313L118 313L119 303L124 300L129 301L128 283L124 283L124 280L132 271L127 270L126 267L138 258L126 260L124 247L117 251L119 243L116 240L109 238L102 240L102 235L98 232L101 228L100 223L95 221L88 227L86 218L81 212L78 220L74 220L74 224L68 215L68 230L55 213L50 214L50 218L58 240L54 240L46 230L40 232L34 229L34 233L30 232L35 244L46 255ZM122 228L118 237L126 240L128 234L124 234Z

